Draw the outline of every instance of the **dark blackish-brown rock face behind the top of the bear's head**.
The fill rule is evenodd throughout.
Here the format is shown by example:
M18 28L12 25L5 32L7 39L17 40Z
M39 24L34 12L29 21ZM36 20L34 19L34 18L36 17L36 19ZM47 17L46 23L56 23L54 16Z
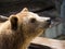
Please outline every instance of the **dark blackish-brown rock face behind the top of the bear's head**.
M9 16L22 11L25 7L37 13L49 7L54 7L54 3L52 0L0 0L0 14Z

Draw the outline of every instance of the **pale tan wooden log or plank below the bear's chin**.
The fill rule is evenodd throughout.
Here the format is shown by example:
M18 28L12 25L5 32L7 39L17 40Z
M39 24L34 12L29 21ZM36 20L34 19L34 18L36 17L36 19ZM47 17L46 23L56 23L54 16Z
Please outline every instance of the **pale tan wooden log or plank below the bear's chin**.
M43 45L53 49L65 49L65 40L56 40L43 37L35 38L31 44Z

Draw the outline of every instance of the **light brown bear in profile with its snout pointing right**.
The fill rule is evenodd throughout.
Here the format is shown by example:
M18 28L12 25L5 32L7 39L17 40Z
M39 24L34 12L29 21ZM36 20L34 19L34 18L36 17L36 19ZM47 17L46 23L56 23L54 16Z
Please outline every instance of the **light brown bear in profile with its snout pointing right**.
M0 24L0 49L27 49L50 23L50 17L39 16L25 8Z

